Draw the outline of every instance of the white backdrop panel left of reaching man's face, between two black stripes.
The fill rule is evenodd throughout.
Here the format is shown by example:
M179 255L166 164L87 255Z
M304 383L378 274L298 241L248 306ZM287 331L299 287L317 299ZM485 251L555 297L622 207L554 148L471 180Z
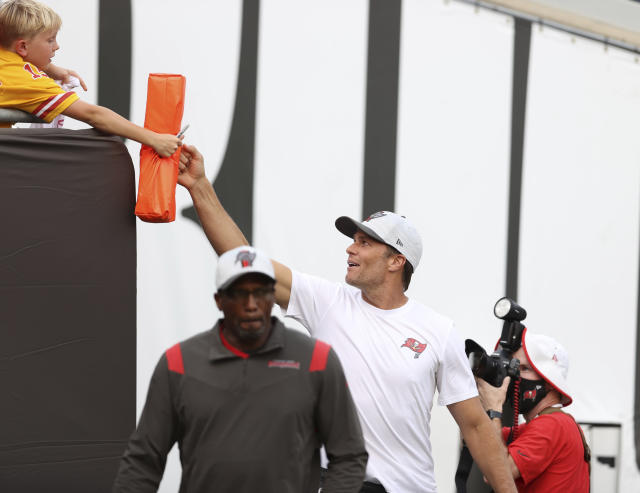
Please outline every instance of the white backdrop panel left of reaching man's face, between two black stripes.
M361 215L368 2L261 3L254 243L292 269L342 279Z

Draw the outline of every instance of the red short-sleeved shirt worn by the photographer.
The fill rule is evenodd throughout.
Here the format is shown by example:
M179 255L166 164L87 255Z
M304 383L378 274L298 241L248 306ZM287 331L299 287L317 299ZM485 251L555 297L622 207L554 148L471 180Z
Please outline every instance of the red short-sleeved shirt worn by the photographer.
M582 438L568 414L544 414L520 425L508 450L520 471L516 480L520 493L589 492Z

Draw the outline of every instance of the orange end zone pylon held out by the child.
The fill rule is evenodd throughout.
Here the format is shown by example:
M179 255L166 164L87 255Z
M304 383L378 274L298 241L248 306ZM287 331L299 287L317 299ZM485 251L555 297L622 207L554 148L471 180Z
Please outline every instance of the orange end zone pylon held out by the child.
M177 134L184 112L186 79L177 74L149 74L144 127ZM163 158L149 146L140 149L140 180L136 216L150 223L176 219L176 185L180 149Z

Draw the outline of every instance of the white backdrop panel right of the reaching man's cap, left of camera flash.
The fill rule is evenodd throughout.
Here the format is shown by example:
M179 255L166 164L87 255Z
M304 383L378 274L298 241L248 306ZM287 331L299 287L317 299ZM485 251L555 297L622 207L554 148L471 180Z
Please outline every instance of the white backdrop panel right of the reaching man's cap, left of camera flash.
M422 233L409 295L453 318L464 338L500 335L509 196L513 22L451 3L403 2L396 211ZM436 480L455 490L459 431L435 405Z

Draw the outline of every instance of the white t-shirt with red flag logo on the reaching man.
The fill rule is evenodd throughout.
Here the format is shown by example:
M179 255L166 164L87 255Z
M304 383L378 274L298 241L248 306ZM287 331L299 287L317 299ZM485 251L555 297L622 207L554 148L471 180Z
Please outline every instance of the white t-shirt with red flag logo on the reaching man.
M453 322L412 299L381 310L357 288L299 272L286 315L340 357L369 452L367 478L391 493L435 492L435 390L440 405L478 395Z

